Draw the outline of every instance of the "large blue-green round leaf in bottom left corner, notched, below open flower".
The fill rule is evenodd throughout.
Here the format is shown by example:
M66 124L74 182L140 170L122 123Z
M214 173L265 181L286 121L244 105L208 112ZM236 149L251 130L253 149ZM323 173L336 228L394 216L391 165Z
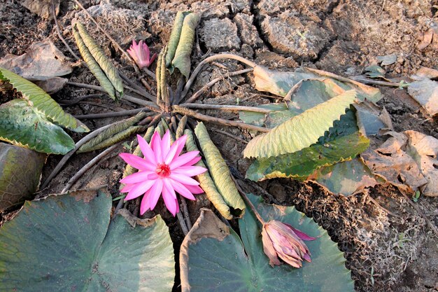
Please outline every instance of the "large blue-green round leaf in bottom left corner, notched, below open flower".
M26 202L0 230L0 291L171 291L169 230L127 212L110 223L99 191Z

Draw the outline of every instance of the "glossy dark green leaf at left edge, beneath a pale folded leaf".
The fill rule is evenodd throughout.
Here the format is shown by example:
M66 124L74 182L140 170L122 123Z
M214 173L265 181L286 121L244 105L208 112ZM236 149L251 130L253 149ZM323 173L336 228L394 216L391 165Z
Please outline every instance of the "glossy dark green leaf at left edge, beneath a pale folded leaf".
M53 154L65 154L75 146L62 127L49 122L23 99L1 104L0 116L0 140Z

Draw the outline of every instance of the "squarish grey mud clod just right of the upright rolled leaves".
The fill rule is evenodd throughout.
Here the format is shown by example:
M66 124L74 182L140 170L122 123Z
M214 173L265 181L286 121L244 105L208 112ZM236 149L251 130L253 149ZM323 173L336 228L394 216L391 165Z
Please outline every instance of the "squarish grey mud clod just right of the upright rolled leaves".
M213 18L204 22L200 36L206 48L214 53L239 50L241 41L237 36L236 25L228 18Z

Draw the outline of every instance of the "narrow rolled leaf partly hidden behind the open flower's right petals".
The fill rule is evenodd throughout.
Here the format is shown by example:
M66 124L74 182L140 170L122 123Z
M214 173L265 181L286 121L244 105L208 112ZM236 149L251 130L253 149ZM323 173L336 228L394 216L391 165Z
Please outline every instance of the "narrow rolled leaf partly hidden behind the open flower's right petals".
M185 141L185 148L187 151L199 151L199 149L196 146L195 139L193 138L193 133L190 130L185 130L184 134L187 135L187 140ZM199 160L197 162L196 166L207 168L204 162L202 160ZM219 213L227 218L228 220L231 220L233 218L231 212L229 211L229 206L223 199L222 195L220 195L218 188L216 188L216 185L211 179L209 172L204 172L203 174L199 174L196 176L199 185L201 186L202 190L204 190L204 193L206 194L207 198L210 200L211 203L213 203L213 206L218 209Z

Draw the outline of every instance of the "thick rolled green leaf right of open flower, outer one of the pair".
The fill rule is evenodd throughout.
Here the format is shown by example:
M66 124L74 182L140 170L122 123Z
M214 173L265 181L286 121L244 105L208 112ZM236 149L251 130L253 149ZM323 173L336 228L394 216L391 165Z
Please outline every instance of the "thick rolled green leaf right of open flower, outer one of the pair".
M207 132L203 123L198 123L195 127L195 134L220 195L222 195L225 203L234 209L231 211L232 214L234 213L233 215L243 215L246 207L245 203L231 178L227 163L222 158L219 149L211 141L209 132Z

